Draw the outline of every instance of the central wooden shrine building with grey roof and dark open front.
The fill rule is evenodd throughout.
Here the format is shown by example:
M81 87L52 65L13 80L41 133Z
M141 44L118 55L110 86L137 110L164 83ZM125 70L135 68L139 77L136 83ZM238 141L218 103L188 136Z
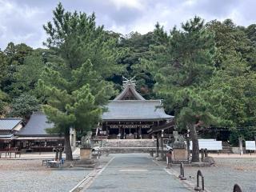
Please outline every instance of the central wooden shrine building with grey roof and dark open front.
M123 81L123 90L111 100L95 138L150 138L150 130L170 125L174 116L166 114L162 100L146 100L135 89L135 81Z

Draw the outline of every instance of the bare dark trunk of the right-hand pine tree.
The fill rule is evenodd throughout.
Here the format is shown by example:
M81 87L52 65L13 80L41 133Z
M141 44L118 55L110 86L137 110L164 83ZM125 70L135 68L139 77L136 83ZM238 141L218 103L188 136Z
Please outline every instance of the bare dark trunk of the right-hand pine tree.
M191 162L199 162L199 143L196 126L190 124L190 134L192 140L192 160Z

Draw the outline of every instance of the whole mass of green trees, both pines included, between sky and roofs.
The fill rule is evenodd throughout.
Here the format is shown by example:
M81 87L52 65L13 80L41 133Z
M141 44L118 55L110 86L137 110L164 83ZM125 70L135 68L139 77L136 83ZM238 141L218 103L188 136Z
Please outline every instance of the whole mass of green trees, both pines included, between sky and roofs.
M44 110L58 133L88 130L121 90L122 75L135 76L142 96L164 99L193 139L210 126L231 130L231 140L254 139L256 24L195 17L173 29L156 24L147 34L124 35L98 26L95 17L59 4L44 25L44 49L10 42L0 51L1 117L26 121Z

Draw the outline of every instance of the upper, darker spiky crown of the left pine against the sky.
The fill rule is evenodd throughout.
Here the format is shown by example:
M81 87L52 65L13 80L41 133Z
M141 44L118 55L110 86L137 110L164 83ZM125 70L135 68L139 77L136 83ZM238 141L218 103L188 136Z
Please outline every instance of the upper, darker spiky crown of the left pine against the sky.
M103 26L96 26L94 14L70 13L59 3L54 10L54 22L48 22L44 29L48 34L45 45L65 59L70 69L90 59L93 70L105 79L122 72L123 67L117 64L118 39L103 30Z

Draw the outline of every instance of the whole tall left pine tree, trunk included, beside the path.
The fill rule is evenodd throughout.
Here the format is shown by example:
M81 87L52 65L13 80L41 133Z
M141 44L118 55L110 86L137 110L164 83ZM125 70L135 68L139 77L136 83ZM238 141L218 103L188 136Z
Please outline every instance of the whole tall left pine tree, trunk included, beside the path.
M46 98L43 109L51 133L64 134L66 159L72 159L70 128L90 130L100 121L102 111L114 94L105 79L118 73L115 40L106 38L96 26L94 14L66 12L61 4L54 10L54 24L44 26L46 45L53 51L39 81L39 94Z

